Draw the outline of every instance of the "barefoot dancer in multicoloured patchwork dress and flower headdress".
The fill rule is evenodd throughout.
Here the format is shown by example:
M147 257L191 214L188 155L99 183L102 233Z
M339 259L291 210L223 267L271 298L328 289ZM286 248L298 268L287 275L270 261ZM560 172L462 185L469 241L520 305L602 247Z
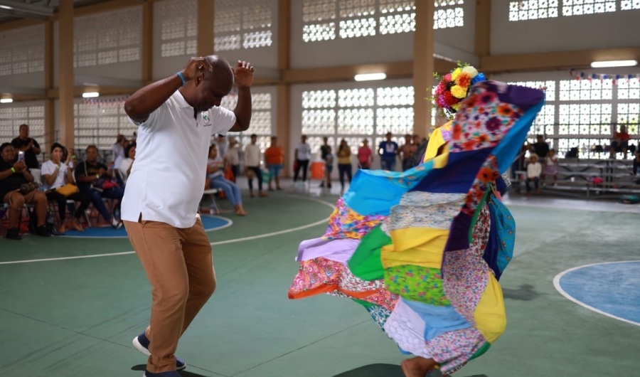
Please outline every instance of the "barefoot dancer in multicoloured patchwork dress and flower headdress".
M402 173L358 170L321 238L299 246L289 298L361 304L400 351L407 377L444 375L484 354L506 328L498 280L515 222L496 190L544 103L541 90L484 80L461 66L434 102L423 163Z

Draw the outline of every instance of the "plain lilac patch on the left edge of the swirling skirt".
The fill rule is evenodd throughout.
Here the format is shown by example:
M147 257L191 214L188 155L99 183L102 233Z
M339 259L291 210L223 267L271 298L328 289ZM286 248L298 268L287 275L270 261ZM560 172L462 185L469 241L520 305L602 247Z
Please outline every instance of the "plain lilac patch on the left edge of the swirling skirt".
M360 240L354 240L353 238L341 238L338 240L313 238L304 240L298 247L296 261L302 262L303 260L324 257L346 265L346 262L351 259L351 255L356 251L359 244Z

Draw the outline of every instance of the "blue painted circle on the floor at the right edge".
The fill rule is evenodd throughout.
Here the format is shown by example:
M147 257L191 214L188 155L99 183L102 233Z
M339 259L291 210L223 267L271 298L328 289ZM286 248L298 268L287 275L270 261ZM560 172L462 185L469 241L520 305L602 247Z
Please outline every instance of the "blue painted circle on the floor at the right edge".
M640 261L579 267L559 283L578 302L640 325Z

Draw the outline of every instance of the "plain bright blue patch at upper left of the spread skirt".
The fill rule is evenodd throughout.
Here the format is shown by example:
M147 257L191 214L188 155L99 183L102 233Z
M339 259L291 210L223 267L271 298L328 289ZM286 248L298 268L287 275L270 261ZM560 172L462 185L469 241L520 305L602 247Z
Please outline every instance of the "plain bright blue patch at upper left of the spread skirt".
M402 194L432 171L433 161L402 172L358 169L343 195L344 203L363 216L388 216L391 207L400 203Z

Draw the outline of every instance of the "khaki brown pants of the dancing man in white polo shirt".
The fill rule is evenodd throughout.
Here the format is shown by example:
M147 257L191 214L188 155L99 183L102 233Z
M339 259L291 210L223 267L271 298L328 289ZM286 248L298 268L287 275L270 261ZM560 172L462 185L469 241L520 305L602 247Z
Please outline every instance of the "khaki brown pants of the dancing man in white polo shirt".
M124 221L124 228L151 283L146 369L174 371L178 339L215 290L211 245L199 217L186 229L156 221Z

